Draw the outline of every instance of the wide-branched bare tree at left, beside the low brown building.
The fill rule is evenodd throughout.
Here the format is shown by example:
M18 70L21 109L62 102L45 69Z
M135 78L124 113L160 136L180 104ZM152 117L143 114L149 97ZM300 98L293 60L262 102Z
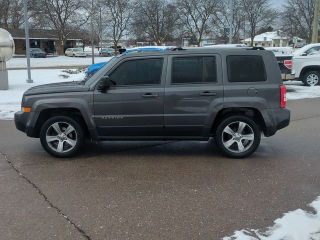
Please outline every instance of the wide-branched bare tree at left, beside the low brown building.
M33 0L30 12L31 26L56 31L54 36L59 39L56 49L63 54L68 36L87 22L92 8L85 0Z

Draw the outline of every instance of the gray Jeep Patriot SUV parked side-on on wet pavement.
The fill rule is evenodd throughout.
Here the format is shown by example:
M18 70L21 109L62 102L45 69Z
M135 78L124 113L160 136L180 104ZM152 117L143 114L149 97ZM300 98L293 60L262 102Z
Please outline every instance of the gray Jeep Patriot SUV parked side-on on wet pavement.
M24 92L16 128L69 157L85 139L208 140L229 157L289 124L276 58L263 48L125 53L88 80Z

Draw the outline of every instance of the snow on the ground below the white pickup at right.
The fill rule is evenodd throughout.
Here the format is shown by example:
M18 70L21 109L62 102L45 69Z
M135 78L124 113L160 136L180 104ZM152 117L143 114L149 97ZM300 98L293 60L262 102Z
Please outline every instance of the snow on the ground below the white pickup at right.
M320 97L320 86L303 86L301 81L286 81L286 100Z

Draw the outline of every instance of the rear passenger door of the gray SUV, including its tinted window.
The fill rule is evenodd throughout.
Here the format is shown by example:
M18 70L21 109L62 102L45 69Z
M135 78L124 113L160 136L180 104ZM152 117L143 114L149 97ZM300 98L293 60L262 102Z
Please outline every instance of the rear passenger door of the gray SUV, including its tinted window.
M207 137L214 116L221 108L220 55L169 55L164 92L164 135Z

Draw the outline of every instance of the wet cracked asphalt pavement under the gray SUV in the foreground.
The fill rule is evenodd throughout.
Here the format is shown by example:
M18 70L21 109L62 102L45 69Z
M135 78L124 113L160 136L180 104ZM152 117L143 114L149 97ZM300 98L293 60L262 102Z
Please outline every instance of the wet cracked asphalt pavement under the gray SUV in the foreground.
M105 141L48 155L0 121L0 239L219 239L320 195L320 98L245 159L214 140Z

